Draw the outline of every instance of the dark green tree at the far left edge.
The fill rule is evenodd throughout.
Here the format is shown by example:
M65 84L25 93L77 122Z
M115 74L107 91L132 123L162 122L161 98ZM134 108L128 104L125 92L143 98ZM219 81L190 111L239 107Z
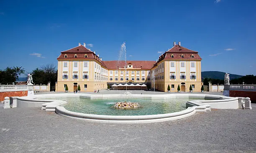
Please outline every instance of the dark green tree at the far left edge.
M22 66L7 67L4 71L0 70L0 83L12 84L19 78L19 75L24 73L25 71L24 68L22 68Z

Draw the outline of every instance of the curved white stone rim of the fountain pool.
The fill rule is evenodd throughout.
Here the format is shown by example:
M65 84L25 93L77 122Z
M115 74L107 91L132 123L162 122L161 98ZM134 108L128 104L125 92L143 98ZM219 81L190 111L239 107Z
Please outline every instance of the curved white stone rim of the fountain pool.
M215 100L192 100L186 103L187 109L179 112L172 112L157 115L134 115L134 116L119 116L119 115L96 115L72 112L63 107L66 102L61 100L44 100L38 98L53 98L53 97L87 97L91 99L110 99L123 98L123 94L41 94L33 97L17 98L18 107L42 107L46 111L55 111L56 113L77 119L83 119L92 122L109 122L109 123L148 123L148 122L163 122L167 120L177 120L193 115L195 112L206 112L210 108L218 109L238 109L237 97L225 97L220 95L210 94L132 94L133 98L170 98L170 97L190 97L204 98Z

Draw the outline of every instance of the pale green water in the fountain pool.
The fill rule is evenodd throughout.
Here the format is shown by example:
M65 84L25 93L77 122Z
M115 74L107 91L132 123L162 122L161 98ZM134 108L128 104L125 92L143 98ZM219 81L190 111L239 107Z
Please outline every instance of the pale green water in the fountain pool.
M169 99L132 99L130 102L138 102L139 107L131 110L116 109L116 102L125 99L89 99L79 97L47 98L58 99L67 102L64 108L72 112L97 115L155 115L179 112L186 109L186 102L190 100L204 100L199 98L169 98Z

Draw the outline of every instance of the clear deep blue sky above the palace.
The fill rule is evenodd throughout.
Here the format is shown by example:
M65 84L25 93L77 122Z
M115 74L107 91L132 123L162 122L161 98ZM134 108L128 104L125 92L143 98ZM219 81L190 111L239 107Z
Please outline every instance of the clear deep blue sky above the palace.
M35 3L36 2L36 3ZM156 60L173 42L199 51L202 71L256 75L254 0L0 1L0 69L57 65L61 51L87 48L118 60Z

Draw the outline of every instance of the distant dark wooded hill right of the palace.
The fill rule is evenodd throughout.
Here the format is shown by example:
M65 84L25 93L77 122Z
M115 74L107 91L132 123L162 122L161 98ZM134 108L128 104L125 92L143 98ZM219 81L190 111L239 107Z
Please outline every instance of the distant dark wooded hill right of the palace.
M212 79L224 79L225 72L220 71L203 71L201 72L202 78L212 78ZM242 75L229 74L230 80L241 78Z

